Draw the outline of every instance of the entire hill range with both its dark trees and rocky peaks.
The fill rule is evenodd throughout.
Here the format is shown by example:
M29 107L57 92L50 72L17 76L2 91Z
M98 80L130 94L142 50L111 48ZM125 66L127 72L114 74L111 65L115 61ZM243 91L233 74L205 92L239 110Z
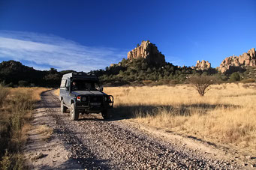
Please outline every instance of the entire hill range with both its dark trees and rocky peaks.
M241 79L251 79L253 82L256 79L255 61L255 50L250 49L239 57L225 58L221 67L216 69L204 60L197 61L195 67L179 67L166 62L157 46L147 40L128 52L127 59L123 58L118 64L111 64L104 70L92 70L89 73L98 76L105 86L177 84L184 83L194 74L215 76L220 82ZM71 71L58 72L54 68L41 71L18 61L3 61L0 63L0 82L9 87L58 87L62 75ZM239 74L239 77L230 79L232 73Z

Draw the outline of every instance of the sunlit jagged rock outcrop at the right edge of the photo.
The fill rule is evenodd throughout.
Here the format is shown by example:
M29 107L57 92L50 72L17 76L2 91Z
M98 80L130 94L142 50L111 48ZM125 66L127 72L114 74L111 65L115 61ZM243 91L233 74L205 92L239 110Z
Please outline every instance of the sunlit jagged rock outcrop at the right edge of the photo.
M227 71L233 72L244 69L247 66L256 67L256 54L254 48L248 50L248 52L245 52L242 55L239 55L238 57L233 55L225 58L218 67L218 70L220 70L221 73L225 73Z

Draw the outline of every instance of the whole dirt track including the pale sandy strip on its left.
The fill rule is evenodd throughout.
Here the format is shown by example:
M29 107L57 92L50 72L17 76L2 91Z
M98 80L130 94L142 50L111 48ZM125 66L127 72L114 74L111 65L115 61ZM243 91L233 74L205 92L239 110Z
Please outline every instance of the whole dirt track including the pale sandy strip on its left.
M58 97L44 92L32 127L47 124L54 133L49 141L41 141L32 128L24 148L32 169L241 169L235 162L212 159L124 121L104 121L101 115L70 121L68 113L59 111Z

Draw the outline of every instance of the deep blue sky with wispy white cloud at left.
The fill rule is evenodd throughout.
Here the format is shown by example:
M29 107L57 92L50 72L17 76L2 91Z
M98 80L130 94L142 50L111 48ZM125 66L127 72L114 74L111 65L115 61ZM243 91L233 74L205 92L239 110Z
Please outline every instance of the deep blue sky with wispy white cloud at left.
M89 71L150 40L173 64L218 67L256 47L255 30L254 0L0 0L0 61Z

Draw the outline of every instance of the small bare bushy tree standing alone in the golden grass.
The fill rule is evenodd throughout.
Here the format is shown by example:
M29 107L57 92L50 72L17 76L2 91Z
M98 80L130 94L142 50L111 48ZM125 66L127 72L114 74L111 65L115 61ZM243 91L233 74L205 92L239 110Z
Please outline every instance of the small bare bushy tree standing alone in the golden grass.
M191 76L188 82L198 91L200 96L204 96L209 91L209 86L215 83L215 78L212 76Z

